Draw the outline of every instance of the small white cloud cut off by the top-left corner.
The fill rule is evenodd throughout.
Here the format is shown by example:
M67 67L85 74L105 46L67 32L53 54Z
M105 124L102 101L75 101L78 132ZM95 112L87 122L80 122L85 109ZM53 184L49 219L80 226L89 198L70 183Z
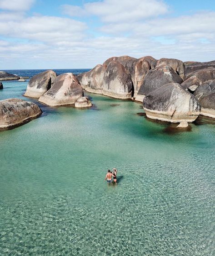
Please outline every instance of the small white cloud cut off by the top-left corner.
M0 0L0 9L23 11L29 10L35 0Z

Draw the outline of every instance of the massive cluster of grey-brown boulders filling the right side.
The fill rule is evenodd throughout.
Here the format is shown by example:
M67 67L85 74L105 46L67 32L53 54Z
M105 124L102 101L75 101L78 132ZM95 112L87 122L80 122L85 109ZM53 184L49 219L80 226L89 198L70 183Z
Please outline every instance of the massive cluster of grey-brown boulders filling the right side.
M151 119L185 127L200 114L215 118L215 61L111 57L77 78L86 91L141 101Z

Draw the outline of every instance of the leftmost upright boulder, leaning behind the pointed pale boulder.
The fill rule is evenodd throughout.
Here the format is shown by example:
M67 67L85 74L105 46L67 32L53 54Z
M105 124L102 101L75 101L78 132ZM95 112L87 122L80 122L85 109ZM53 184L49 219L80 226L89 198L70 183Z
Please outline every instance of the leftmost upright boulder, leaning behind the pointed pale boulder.
M51 88L56 77L57 74L53 70L47 70L33 76L28 83L24 96L39 98Z

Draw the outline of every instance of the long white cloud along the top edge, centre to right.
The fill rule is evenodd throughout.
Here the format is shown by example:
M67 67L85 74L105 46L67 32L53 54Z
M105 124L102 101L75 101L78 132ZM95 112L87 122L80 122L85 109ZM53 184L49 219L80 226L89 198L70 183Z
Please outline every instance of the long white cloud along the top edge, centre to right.
M87 3L84 8L74 5L62 7L70 16L96 15L103 22L110 23L139 21L168 12L168 5L160 0L104 0Z

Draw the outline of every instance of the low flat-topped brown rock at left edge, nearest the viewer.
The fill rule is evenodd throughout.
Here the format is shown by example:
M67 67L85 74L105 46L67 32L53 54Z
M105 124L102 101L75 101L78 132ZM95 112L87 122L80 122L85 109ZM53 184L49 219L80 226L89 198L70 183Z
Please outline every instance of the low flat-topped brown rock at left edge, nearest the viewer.
M42 114L37 104L22 99L0 101L0 128L21 125Z

